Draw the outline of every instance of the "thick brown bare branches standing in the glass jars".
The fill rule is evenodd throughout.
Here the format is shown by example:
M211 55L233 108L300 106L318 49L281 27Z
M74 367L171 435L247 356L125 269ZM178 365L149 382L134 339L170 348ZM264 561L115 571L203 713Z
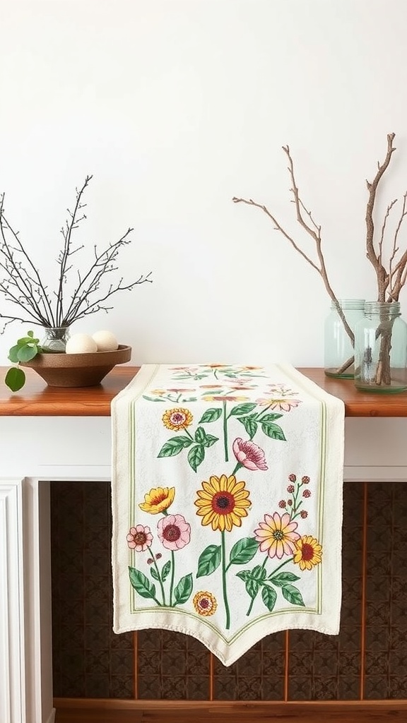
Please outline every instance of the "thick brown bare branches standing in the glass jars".
M400 291L403 288L404 284L406 283L407 278L407 249L401 254L401 256L398 258L398 254L400 253L400 247L398 245L398 236L400 232L400 227L403 223L404 218L406 218L407 215L407 192L403 196L403 207L400 213L400 218L398 220L398 224L395 228L394 237L393 237L393 243L390 251L390 256L387 259L387 268L386 268L386 261L383 257L383 246L385 241L385 231L387 226L387 220L390 216L391 211L393 210L393 207L397 203L397 200L393 200L388 206L385 213L385 218L382 223L381 231L379 239L376 239L375 237L375 228L374 228L374 202L376 200L376 194L377 194L377 188L379 186L379 182L382 179L382 176L385 174L385 171L387 171L387 168L390 164L390 160L392 158L392 155L395 151L395 147L393 146L393 140L395 138L394 133L390 133L387 135L387 153L385 160L382 163L377 163L377 173L376 176L374 176L374 179L372 182L366 181L367 189L369 193L367 205L366 205L366 257L369 259L369 261L372 263L376 276L377 276L377 301L398 301L398 297L400 295ZM321 226L319 226L316 221L314 221L313 215L311 211L306 208L306 205L303 203L303 200L301 199L301 195L297 186L297 183L295 181L295 172L294 172L294 163L293 158L290 153L290 148L288 145L283 146L282 150L285 152L285 155L287 155L288 158L288 171L290 174L291 179L291 193L293 194L293 203L295 205L295 213L298 223L300 224L301 228L303 228L304 231L306 231L309 236L311 236L311 239L313 239L315 244L315 250L316 250L316 257L317 261L314 261L311 259L311 257L306 254L306 252L301 249L301 247L295 242L293 239L293 236L288 234L288 231L285 230L284 226L280 223L280 221L277 221L277 218L274 216L273 213L269 211L267 206L258 203L256 201L253 201L253 199L246 199L246 198L238 198L234 197L232 200L235 203L246 203L251 206L255 206L256 208L259 208L261 211L263 211L270 221L274 224L274 228L277 231L280 231L280 234L282 236L285 236L285 239L287 239L290 244L293 246L295 251L297 251L301 256L308 262L312 268L316 270L317 273L322 278L322 281L324 283L325 288L327 289L328 294L330 295L330 298L332 299L333 303L335 304L335 308L337 309L337 313L340 316L340 319L343 322L343 325L345 327L346 333L348 334L349 338L351 339L352 344L354 345L354 335L353 331L348 325L348 322L345 319L345 315L343 314L343 310L340 307L340 303L337 299L337 296L335 294L335 291L333 291L328 272L327 272L327 266L325 264L324 260L324 254L322 252L322 229ZM378 330L378 333L380 334L380 330ZM388 356L388 354L387 354ZM353 364L354 357L351 357L351 359L347 359L343 366L340 367L340 369L337 369L337 373L340 374L341 372L345 371L348 367ZM381 375L381 372L380 372ZM379 376L377 376L377 383L381 383L381 380ZM387 383L387 382L385 382Z

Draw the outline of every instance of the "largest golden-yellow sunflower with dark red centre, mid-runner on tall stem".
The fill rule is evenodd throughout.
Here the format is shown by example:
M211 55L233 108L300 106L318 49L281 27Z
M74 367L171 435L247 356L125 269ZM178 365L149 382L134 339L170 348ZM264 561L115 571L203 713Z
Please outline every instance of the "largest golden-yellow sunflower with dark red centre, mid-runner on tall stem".
M247 508L251 505L245 486L246 482L236 482L234 474L213 475L209 482L202 482L203 489L198 489L198 500L194 502L198 508L196 514L203 518L201 523L222 532L230 532L233 525L240 527L241 518L247 517Z

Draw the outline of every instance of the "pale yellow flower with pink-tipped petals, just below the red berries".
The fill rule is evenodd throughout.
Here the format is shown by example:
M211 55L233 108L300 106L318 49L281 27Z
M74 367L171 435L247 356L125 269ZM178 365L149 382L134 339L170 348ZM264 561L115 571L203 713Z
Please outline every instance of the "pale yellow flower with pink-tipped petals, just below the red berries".
M290 521L287 512L282 517L274 512L274 515L264 515L264 522L260 522L254 531L254 539L260 543L261 552L281 560L283 555L293 555L295 552L295 543L300 539L298 532L295 532L297 527L298 524Z

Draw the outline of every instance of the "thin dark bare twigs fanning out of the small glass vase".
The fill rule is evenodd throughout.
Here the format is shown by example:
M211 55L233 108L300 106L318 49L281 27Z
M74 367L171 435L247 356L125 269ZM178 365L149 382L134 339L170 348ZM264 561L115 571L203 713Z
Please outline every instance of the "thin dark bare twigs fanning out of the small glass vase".
M20 241L18 231L14 231L7 221L4 215L4 194L0 196L0 274L3 275L3 278L0 277L0 294L16 309L11 315L0 312L0 321L3 322L1 333L14 321L34 322L46 328L68 327L90 314L109 312L113 307L107 305L106 301L118 291L131 291L141 283L151 283L150 271L131 283L124 283L123 278L119 278L102 288L106 275L118 270L117 257L120 249L130 244L133 228L127 228L125 234L118 241L109 244L104 251L98 251L94 245L91 265L85 272L77 268L74 271L72 257L83 249L83 245L74 247L72 234L86 218L83 212L83 194L91 178L92 176L86 176L83 186L76 189L75 208L73 211L68 209L69 218L61 229L64 241L56 259L59 267L58 281L52 291L49 291L49 287L43 282L37 265ZM74 288L69 292L69 298L65 299L64 289L72 275L76 277Z

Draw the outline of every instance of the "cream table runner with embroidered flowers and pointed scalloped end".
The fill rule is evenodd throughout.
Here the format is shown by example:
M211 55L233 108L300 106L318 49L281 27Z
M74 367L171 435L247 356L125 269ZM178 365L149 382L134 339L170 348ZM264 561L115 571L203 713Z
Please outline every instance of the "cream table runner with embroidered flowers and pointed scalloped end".
M294 367L141 367L112 402L114 631L225 665L277 630L337 634L343 446L343 402Z

